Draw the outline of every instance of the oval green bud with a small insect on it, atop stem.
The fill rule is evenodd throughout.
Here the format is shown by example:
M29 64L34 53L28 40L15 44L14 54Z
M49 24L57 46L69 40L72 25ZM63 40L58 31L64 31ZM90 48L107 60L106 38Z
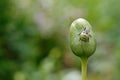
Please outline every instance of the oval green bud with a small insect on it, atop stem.
M75 20L70 27L70 46L79 57L89 57L96 49L96 39L91 25L85 19Z

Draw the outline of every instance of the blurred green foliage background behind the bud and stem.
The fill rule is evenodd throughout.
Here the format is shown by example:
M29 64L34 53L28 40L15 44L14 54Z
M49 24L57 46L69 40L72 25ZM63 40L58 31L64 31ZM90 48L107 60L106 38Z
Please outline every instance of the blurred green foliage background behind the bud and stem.
M80 17L97 38L88 80L120 80L120 0L0 0L0 80L81 80L69 47Z

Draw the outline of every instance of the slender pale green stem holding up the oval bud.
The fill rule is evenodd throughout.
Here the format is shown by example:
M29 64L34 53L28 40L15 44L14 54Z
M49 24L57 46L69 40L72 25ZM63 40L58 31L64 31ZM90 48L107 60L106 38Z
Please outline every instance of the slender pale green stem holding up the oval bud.
M81 62L82 62L82 80L86 80L87 79L88 58L81 58Z

